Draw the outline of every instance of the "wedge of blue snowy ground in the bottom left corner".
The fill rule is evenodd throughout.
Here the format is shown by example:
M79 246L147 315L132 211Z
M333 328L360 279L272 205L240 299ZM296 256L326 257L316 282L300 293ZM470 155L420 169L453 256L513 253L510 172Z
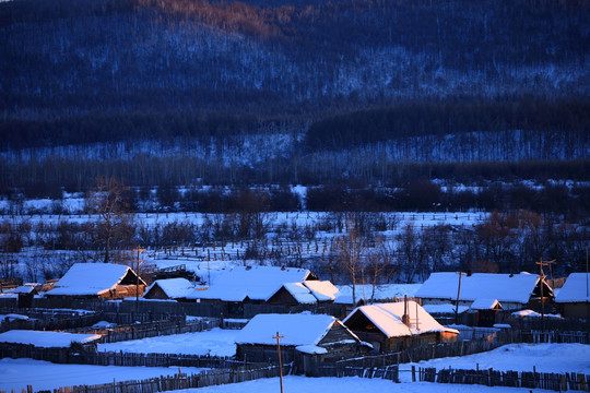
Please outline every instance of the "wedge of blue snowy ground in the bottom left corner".
M203 369L182 368L182 372L197 373ZM0 391L20 392L27 385L33 391L61 386L93 385L113 381L144 380L160 376L174 376L177 367L116 367L86 365L56 365L33 359L0 359Z

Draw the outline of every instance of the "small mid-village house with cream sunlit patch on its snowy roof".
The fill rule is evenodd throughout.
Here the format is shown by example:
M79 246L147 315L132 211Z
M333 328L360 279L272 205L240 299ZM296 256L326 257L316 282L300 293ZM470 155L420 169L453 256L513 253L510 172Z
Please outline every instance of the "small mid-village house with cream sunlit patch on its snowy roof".
M317 305L333 302L338 288L329 281L285 283L267 301L269 305Z

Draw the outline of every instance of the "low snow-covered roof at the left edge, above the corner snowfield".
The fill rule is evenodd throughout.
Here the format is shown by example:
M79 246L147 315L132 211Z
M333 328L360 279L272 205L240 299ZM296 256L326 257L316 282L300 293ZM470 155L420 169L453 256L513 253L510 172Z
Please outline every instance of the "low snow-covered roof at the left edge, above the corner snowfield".
M34 345L44 348L67 348L72 343L84 344L98 338L101 338L99 334L75 334L27 330L12 330L0 333L0 343Z

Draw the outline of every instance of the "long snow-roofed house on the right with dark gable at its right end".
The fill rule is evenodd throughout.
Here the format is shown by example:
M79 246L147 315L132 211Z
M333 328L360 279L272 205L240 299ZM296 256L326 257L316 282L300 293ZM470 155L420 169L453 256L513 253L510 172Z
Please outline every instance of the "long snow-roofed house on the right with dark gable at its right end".
M415 297L423 305L456 305L459 296L459 306L467 307L477 299L496 299L505 310L520 310L539 308L541 293L545 306L553 300L553 289L534 274L462 273L459 290L459 274L440 272L430 274Z

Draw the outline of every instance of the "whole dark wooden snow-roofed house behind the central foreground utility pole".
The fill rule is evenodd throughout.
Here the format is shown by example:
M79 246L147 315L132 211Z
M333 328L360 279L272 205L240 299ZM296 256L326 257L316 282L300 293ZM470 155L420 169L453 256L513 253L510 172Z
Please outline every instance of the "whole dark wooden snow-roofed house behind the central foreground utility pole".
M236 357L247 361L295 361L300 372L312 374L314 365L350 358L367 348L341 321L332 315L258 314L236 338Z

